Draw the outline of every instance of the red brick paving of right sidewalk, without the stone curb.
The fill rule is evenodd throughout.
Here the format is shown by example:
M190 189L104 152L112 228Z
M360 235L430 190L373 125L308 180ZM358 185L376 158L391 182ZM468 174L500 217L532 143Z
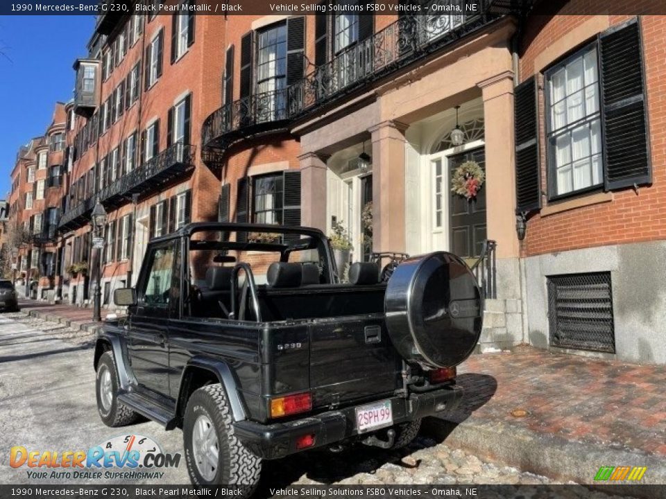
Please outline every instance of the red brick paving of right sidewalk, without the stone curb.
M666 456L666 367L520 347L472 356L459 372L467 396L450 421L503 421L567 440ZM511 415L520 409L526 417Z

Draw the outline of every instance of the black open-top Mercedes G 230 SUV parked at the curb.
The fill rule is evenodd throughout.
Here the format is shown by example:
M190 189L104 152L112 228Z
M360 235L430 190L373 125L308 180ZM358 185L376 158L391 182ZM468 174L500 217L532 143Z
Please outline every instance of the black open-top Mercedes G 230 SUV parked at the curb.
M101 419L182 428L191 481L244 495L263 459L409 444L459 402L483 299L449 253L381 270L354 263L341 282L327 238L303 227L194 223L151 240L136 288L114 292L127 317L96 340Z

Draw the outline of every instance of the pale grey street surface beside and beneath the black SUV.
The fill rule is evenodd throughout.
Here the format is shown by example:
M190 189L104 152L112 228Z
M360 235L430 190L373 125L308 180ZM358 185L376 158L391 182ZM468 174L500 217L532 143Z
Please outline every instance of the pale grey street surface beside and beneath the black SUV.
M142 435L166 453L182 453L180 430L153 422L108 428L96 410L92 336L23 313L0 315L0 483L3 484L187 484L184 461L164 469L160 480L87 480L28 476L9 466L10 448L87 450L112 437ZM53 469L46 468L46 471ZM60 471L56 469L56 471ZM357 446L342 453L301 453L264 467L259 496L291 484L550 484L549 479L484 462L428 437L388 452ZM583 491L581 491L583 493ZM576 497L573 494L572 497ZM584 496L581 496L584 497Z

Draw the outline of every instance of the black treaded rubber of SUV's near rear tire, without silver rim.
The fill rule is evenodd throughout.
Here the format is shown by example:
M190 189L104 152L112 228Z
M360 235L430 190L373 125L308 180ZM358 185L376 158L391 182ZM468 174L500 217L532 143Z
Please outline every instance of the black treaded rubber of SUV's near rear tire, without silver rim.
M216 474L210 481L200 475L192 450L194 422L200 414L212 421L219 446ZM262 459L245 448L234 435L230 408L222 385L219 383L206 385L191 394L185 408L182 439L187 473L189 473L192 484L195 486L230 485L234 489L239 489L239 497L252 495L259 482Z

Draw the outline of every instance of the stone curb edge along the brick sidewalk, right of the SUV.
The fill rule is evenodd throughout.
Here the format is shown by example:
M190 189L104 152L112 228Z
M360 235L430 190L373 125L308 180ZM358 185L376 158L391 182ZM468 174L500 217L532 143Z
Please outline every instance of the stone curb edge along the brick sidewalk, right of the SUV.
M562 481L590 484L595 489L610 487L609 493L622 493L652 499L666 497L666 466L663 456L647 454L641 450L624 448L618 444L589 444L544 435L526 428L511 426L502 421L475 421L473 417L462 423L448 421L445 417L428 418L422 432L444 441L447 446L460 448L479 458L490 459L506 466L515 466ZM620 482L594 482L601 466L647 466L640 485ZM606 485L604 485L606 483ZM644 485L661 487L642 487Z

